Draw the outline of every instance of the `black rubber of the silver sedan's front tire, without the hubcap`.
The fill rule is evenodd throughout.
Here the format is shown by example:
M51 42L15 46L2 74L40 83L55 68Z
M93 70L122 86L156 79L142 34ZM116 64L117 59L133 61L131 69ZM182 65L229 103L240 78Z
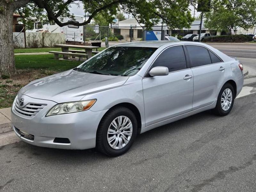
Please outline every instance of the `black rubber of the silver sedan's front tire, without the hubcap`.
M127 116L132 122L132 136L129 142L121 149L111 148L107 140L108 127L111 122L118 116ZM126 153L131 148L138 132L137 119L134 113L125 107L116 107L110 109L101 119L97 135L96 135L96 148L101 153L107 156L119 156Z

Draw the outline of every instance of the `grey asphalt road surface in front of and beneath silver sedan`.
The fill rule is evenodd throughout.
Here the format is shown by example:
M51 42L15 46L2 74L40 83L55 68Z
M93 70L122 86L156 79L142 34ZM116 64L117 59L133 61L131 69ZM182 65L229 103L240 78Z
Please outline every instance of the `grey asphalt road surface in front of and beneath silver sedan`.
M256 69L255 60L239 59ZM251 92L255 81L245 85ZM255 98L236 99L228 116L206 111L143 133L115 158L22 141L2 146L0 191L256 191Z

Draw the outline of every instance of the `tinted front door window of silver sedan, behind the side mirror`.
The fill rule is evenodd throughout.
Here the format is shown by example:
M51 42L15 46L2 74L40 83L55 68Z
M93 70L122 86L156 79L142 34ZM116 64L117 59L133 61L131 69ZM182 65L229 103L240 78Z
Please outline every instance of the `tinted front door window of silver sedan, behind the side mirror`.
M163 66L169 72L187 68L185 53L182 46L170 47L159 55L152 67Z

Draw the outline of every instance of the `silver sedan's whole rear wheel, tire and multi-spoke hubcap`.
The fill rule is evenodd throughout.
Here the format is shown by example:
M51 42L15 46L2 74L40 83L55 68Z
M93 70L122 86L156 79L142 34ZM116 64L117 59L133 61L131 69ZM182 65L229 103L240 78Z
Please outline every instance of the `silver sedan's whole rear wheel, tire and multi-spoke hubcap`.
M225 116L231 111L234 105L234 88L231 84L224 84L220 90L216 107L214 108L214 112L217 115Z

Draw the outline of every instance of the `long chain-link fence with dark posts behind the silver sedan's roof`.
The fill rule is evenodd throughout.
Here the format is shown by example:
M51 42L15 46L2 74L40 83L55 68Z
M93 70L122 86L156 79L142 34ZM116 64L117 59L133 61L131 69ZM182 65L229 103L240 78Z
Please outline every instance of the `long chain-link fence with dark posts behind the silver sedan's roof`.
M184 39L188 34L199 35L200 24L190 25L189 28L173 29L170 26L153 26L151 30L146 30L143 26L84 26L84 42L102 42L105 46L105 37L108 39L106 46L117 43L149 41L149 40L168 40L166 36L173 36L179 40L193 41L193 38ZM201 33L210 33L209 30L202 28ZM215 34L216 35L216 34Z

